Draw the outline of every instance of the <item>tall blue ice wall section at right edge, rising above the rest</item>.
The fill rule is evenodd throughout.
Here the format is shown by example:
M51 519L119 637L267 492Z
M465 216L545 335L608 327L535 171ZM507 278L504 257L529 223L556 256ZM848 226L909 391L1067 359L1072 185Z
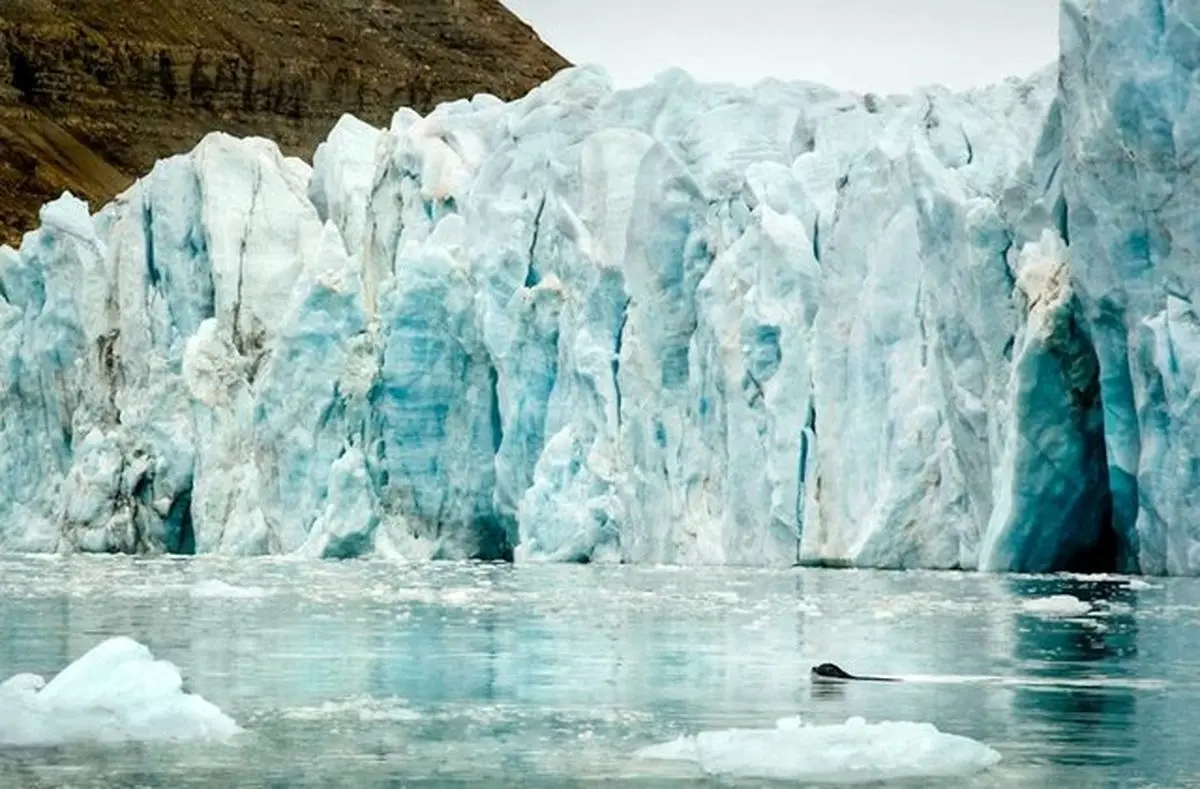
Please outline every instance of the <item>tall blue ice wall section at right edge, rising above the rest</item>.
M1124 552L1200 573L1200 8L1062 6L1073 272L1100 366Z

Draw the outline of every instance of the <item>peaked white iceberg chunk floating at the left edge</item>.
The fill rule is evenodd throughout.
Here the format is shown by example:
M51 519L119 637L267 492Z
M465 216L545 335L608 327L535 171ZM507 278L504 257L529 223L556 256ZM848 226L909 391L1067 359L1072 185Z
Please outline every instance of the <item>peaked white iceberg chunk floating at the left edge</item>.
M0 683L0 746L208 740L241 731L216 705L182 689L179 669L119 636L49 683L18 674Z

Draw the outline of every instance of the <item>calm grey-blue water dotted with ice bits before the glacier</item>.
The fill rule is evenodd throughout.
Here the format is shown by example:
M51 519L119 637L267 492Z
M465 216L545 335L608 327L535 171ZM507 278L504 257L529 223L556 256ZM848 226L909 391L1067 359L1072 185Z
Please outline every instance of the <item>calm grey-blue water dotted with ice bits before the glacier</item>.
M1022 607L1055 594L1091 612ZM7 556L0 677L125 634L248 734L0 749L0 785L763 785L632 754L799 715L1003 755L906 785L1200 787L1198 622L1187 579Z

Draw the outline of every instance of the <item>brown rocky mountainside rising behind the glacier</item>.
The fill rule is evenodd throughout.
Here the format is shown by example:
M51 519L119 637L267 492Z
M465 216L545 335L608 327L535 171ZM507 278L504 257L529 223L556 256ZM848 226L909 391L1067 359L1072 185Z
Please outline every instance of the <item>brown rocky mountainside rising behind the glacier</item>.
M497 0L0 0L0 241L210 131L308 158L342 113L516 98L566 65Z

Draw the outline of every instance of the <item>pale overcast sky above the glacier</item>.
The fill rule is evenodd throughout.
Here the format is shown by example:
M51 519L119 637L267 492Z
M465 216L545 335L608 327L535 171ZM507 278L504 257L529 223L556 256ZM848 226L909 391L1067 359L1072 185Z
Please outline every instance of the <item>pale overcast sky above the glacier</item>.
M502 0L618 86L668 66L703 80L810 79L899 92L1027 76L1057 58L1058 0Z

